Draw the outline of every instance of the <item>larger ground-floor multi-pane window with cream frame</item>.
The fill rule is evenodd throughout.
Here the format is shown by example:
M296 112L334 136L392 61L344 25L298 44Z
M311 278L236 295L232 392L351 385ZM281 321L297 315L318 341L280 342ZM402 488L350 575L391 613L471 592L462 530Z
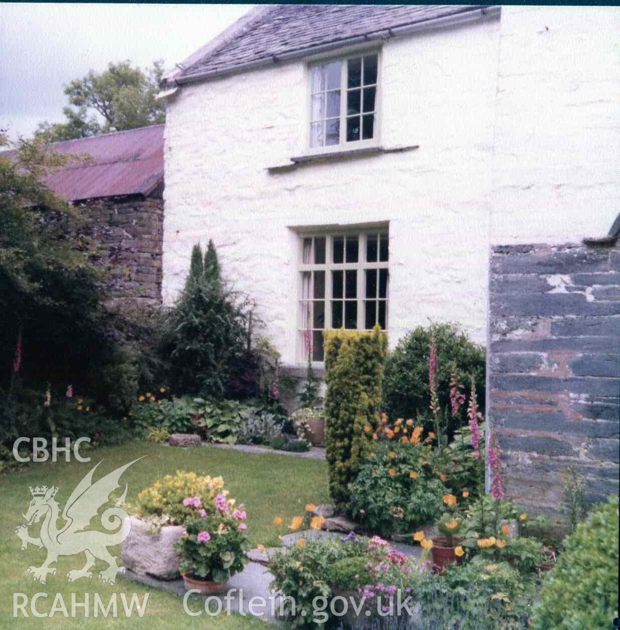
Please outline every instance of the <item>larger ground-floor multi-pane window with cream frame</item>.
M327 328L388 325L389 248L386 228L301 238L299 357L323 361Z

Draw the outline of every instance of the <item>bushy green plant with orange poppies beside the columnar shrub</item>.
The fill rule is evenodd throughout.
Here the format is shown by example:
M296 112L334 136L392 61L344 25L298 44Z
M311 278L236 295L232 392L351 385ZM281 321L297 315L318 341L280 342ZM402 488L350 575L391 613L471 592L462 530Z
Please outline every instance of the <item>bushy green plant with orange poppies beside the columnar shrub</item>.
M432 473L421 444L382 442L360 466L350 485L353 516L365 528L388 534L404 534L439 516L446 493Z

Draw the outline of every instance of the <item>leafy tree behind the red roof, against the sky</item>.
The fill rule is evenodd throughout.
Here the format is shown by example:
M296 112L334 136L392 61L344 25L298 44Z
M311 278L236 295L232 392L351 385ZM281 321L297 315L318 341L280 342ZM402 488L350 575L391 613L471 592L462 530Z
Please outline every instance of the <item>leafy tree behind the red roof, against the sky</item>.
M35 135L59 142L163 123L166 106L155 100L162 75L162 60L146 72L129 59L110 63L103 72L91 70L65 86L69 103L77 107L62 110L67 122L42 122Z

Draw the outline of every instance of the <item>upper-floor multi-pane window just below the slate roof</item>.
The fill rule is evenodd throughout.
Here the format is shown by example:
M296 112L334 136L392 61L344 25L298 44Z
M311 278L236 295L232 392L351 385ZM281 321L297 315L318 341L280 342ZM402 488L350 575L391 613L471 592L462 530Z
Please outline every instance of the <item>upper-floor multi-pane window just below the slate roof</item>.
M311 67L311 148L376 137L378 60L359 55Z

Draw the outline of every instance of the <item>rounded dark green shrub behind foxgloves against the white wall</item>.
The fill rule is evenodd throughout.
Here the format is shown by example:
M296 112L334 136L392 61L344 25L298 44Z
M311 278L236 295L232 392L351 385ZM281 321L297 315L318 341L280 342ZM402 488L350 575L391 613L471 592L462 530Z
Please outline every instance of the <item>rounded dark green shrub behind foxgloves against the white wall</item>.
M437 393L439 406L450 408L450 377L456 369L456 379L466 389L469 377L476 380L476 395L484 413L485 350L469 340L457 324L432 324L414 329L398 341L388 355L383 377L383 410L391 418L416 418L428 415L428 356L431 334L437 345ZM463 404L456 420L451 419L449 435L455 427L467 421L467 404Z

